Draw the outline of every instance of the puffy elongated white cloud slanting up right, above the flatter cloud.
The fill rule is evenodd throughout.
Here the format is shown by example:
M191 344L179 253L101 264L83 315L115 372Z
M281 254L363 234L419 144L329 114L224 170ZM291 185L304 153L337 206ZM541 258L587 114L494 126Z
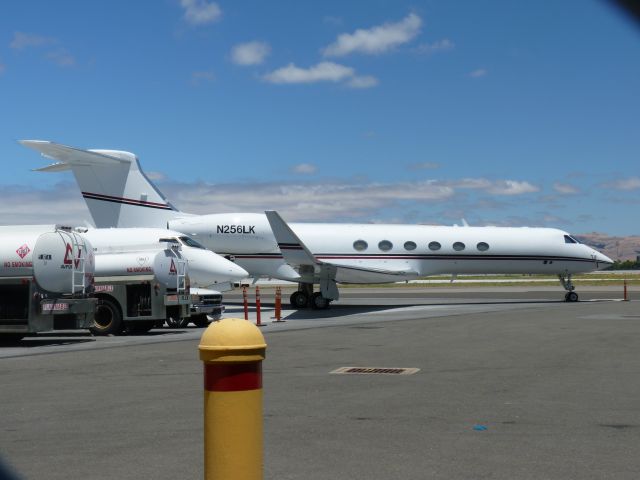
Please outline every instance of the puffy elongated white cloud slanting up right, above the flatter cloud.
M326 57L341 57L350 53L379 54L410 42L420 33L421 18L410 13L397 23L385 23L370 29L343 33L323 50Z

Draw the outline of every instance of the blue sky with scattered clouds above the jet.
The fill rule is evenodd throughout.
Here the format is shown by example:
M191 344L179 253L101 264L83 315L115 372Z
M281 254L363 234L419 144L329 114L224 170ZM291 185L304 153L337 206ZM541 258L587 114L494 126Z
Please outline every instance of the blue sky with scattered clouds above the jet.
M0 224L89 218L27 138L193 213L640 234L639 59L603 1L9 2Z

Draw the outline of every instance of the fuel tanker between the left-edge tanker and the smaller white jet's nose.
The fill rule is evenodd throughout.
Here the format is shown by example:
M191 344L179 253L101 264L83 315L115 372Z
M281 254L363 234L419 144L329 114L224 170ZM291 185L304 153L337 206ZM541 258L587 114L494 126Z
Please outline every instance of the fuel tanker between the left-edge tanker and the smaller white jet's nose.
M167 320L189 317L188 267L179 243L96 252L95 264L94 335L145 333Z

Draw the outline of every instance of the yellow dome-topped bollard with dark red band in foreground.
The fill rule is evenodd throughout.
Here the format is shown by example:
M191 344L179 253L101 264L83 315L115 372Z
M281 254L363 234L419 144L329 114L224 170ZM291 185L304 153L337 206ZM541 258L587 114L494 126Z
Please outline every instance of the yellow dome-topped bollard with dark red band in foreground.
M212 322L198 346L204 362L204 478L262 479L260 329L239 318Z

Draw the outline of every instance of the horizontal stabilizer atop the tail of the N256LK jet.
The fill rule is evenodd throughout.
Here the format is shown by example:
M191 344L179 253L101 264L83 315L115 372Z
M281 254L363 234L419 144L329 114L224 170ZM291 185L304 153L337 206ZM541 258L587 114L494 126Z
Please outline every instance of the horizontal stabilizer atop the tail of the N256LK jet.
M46 140L20 140L20 143L25 147L40 152L43 157L59 161L59 163L35 169L38 172L62 172L71 169L69 165L71 163L76 165L118 165L129 163L127 160L104 153L81 150Z

